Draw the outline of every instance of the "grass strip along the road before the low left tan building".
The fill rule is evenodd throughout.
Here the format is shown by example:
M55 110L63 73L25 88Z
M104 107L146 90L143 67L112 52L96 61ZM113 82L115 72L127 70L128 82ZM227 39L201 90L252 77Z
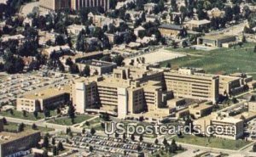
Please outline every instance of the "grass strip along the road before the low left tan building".
M11 115L9 112L2 111L0 112L1 116L6 116L6 117L13 117L13 118L19 118L22 120L30 120L30 121L38 121L40 119L44 119L44 113L38 112L38 118L36 118L33 113L26 113L26 116L23 116L23 113L21 111L13 110L14 115ZM50 111L50 115L54 116L56 115L55 110Z

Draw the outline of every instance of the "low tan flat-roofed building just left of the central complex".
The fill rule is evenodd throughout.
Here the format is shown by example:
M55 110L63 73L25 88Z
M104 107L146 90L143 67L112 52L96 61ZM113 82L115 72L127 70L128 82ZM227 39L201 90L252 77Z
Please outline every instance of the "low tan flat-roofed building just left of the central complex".
M70 87L49 87L38 93L24 95L17 98L17 110L26 110L27 112L41 111L44 108L55 109L69 100Z

